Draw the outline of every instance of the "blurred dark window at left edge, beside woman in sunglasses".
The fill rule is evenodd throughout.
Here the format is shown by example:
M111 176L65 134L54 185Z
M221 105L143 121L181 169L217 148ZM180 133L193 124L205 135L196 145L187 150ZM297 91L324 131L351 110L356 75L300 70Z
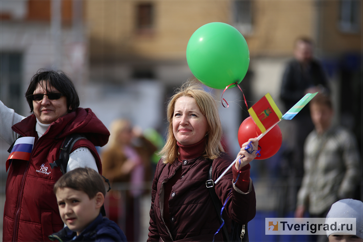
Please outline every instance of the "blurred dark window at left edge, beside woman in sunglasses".
M21 65L20 53L0 52L0 100L18 114L21 113Z

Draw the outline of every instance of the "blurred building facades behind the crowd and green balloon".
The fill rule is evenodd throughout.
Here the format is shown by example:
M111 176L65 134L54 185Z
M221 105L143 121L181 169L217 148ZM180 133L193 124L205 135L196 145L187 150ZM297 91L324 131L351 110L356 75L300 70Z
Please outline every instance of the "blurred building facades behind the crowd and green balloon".
M362 147L358 0L0 0L0 21L0 99L5 105L29 115L24 93L31 77L40 68L60 69L73 79L80 106L90 107L107 127L123 117L162 135L168 98L193 78L185 50L200 26L225 22L243 34L250 66L240 86L249 106L269 92L283 113L279 94L285 63L296 38L310 37L329 76L335 122L352 130ZM220 100L222 91L211 91ZM230 106L220 105L220 112L234 156L238 127L248 113L237 88L224 98ZM285 137L284 122L281 129ZM4 187L8 145L1 141L0 147Z

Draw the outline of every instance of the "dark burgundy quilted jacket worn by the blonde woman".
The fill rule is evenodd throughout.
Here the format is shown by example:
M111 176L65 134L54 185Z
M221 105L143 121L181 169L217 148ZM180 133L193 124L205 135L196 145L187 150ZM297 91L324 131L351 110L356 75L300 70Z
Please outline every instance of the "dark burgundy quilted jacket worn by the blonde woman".
M231 157L221 152L220 157L213 160L213 181L232 163ZM150 210L150 227L148 241L212 241L213 234L220 227L211 195L205 185L208 180L211 160L203 157L176 161L174 164L163 164L159 161L152 183ZM170 227L163 219L165 183L182 169L181 179L172 187L169 198ZM237 192L232 184L233 174L230 169L215 185L217 196L221 202L229 198L224 215L228 230L231 219L246 224L256 215L256 194L250 180L249 192ZM228 216L228 217L227 217ZM221 233L215 241L222 241Z

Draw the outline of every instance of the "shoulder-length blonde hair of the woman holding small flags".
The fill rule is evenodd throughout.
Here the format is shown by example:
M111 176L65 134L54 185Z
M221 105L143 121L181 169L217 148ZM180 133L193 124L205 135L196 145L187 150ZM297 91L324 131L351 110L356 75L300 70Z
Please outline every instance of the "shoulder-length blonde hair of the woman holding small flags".
M198 84L197 81L189 80L176 90L176 94L173 95L168 103L167 120L169 126L167 131L167 140L164 147L159 152L159 154L162 156L163 163L172 164L179 156L178 145L176 144L176 139L173 133L173 116L175 102L180 97L194 98L199 110L207 118L207 144L205 146L203 157L216 159L219 156L219 153L224 151L221 144L222 125L219 119L216 101L210 93L207 93L207 91L205 91L203 87Z

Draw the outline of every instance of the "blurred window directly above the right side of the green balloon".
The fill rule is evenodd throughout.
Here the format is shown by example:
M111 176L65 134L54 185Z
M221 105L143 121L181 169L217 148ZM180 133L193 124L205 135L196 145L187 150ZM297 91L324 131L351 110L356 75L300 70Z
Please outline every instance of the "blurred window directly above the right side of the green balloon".
M252 33L252 2L250 0L233 2L233 23L242 34Z

